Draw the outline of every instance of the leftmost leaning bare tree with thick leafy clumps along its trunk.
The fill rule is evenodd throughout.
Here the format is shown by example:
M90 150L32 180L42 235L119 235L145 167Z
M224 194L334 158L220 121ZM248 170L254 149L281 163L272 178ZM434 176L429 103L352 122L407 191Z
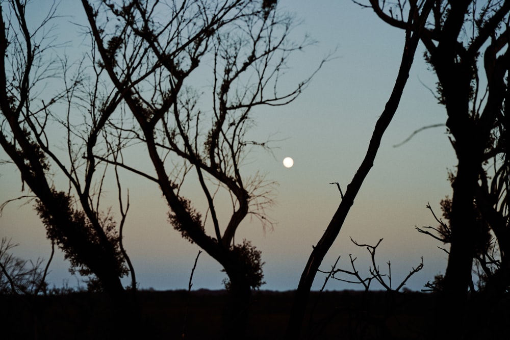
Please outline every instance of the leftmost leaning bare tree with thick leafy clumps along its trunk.
M93 274L91 282L120 298L126 257L112 214L99 210L106 168L93 157L119 96L111 94L101 103L92 98L87 107L75 105L87 80L80 65L71 75L67 60L56 55L62 47L54 35L56 4L39 24L27 21L27 5L21 0L2 4L0 144L21 174L21 190L26 185L33 193L29 196L36 197L47 237L70 260L71 270ZM52 81L64 84L60 92L45 92ZM78 124L80 116L91 119ZM67 128L60 140L54 138L59 124ZM60 188L59 176L67 179Z

